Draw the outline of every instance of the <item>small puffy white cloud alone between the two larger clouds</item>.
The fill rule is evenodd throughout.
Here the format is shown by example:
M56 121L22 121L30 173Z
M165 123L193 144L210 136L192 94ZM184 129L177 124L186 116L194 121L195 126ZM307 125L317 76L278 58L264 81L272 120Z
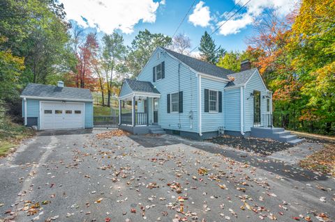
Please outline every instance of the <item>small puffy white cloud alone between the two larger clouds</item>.
M194 8L193 13L188 17L188 22L194 26L209 26L211 15L208 6L204 6L204 1L200 1Z

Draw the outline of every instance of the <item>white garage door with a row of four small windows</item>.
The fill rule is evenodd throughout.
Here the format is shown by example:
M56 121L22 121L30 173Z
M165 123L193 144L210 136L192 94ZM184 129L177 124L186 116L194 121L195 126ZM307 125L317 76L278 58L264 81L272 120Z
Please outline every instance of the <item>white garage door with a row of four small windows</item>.
M84 104L41 102L41 129L84 128Z

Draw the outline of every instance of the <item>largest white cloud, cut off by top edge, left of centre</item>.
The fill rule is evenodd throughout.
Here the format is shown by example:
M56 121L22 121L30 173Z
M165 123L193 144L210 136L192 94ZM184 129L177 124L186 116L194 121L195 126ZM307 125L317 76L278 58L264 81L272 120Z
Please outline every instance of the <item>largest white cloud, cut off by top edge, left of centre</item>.
M84 27L96 27L105 33L112 33L114 29L132 33L140 20L155 22L160 4L153 0L61 0L61 3L64 3L68 19ZM165 0L161 3L165 3Z

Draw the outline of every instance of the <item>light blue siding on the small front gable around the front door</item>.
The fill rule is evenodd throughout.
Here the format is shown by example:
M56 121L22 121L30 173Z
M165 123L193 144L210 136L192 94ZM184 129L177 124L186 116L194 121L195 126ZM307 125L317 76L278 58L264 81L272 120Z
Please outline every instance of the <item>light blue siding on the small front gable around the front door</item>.
M261 115L261 124L264 123L263 115L267 113L267 98L263 99L263 96L269 95L267 88L265 88L262 83L259 72L256 70L255 74L249 79L246 84L245 93L244 93L244 110L245 110L245 120L244 120L244 132L250 131L253 127L253 97L250 96L253 93L253 90L260 91L260 115Z

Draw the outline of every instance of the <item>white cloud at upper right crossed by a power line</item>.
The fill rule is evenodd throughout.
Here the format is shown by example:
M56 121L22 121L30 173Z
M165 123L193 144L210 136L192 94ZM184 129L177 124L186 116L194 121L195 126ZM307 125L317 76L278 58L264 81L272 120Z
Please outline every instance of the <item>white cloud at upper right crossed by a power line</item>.
M235 4L239 4L236 8L237 10L244 6L244 4L248 0L234 0ZM228 22L223 24L230 16L233 15L234 12L230 13L228 15L227 13L223 13L223 17L225 19L221 22L218 22L216 25L220 26L223 24L223 26L220 28L219 33L221 35L230 35L230 34L236 34L241 31L241 29L246 28L249 24L252 24L253 19L256 17L262 15L262 13L266 9L275 10L276 13L280 16L288 15L288 13L291 12L291 10L295 7L295 4L298 0L258 0L258 1L250 1L246 4L246 13L237 14L232 19L230 19Z

